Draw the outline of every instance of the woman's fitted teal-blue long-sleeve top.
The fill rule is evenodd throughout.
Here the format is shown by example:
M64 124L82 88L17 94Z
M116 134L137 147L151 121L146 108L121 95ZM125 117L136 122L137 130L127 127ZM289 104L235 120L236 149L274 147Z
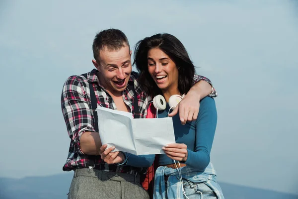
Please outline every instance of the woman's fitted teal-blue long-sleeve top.
M158 111L158 118L167 117L169 105L166 109ZM187 160L185 164L201 169L202 171L210 162L210 152L217 125L217 110L215 100L206 97L200 101L199 114L196 121L181 124L179 114L173 116L173 125L176 143L187 145ZM159 155L159 165L173 164L173 160L165 154Z

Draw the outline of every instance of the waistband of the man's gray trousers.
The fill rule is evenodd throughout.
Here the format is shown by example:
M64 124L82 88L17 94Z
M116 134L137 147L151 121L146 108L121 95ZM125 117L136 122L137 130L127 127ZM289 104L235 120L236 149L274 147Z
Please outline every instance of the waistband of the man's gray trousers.
M127 174L127 173L119 173L119 172L106 172L103 170L97 169L75 169L74 170L74 178L78 176L86 176L92 178L98 178L98 180L114 180L114 181L126 181L126 182L134 182L140 183L140 175L137 174Z

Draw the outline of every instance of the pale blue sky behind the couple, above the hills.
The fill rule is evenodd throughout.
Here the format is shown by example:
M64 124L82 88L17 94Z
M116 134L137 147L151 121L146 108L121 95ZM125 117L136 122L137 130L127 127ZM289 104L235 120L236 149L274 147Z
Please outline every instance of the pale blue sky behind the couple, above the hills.
M63 173L63 83L93 68L93 38L112 27L131 46L175 35L213 81L219 181L298 194L297 13L295 0L1 1L0 176Z

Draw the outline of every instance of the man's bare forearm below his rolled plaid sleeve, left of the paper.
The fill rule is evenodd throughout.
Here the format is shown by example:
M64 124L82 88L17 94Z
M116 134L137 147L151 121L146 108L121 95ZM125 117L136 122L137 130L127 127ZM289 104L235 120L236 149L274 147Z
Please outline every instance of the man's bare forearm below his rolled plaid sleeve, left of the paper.
M87 155L99 155L101 140L98 132L86 131L80 137L80 150Z

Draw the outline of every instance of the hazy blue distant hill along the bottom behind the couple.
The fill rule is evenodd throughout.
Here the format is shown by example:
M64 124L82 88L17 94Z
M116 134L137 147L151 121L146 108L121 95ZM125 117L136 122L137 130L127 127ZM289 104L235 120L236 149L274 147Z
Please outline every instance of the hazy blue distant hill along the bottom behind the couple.
M73 172L23 179L0 178L0 199L67 199ZM297 195L220 183L225 199L298 199Z

